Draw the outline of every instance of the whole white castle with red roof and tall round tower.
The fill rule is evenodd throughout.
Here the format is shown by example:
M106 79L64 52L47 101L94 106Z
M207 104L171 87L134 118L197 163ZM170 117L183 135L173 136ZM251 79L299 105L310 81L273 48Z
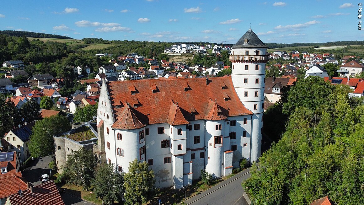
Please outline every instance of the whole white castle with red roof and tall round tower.
M232 76L103 82L98 107L101 154L128 172L137 158L156 186L180 189L205 169L227 176L261 155L267 46L249 29L232 46Z

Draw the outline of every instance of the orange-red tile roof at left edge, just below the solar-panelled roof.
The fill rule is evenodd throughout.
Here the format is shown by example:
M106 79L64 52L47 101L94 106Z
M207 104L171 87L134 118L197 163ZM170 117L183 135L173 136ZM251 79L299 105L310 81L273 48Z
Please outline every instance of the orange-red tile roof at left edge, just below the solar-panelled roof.
M27 181L21 172L0 175L0 198L7 198L11 194L18 193L19 189L28 189Z

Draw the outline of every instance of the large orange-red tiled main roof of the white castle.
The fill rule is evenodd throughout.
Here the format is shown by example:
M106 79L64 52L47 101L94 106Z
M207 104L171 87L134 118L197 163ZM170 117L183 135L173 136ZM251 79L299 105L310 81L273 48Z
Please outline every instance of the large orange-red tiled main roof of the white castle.
M221 84L225 84L225 87ZM138 82L125 80L107 82L106 86L116 116L113 128L117 129L128 127L124 125L126 119L123 116L129 110L137 113L137 119L142 124L138 127L167 123L170 110L166 108L170 107L171 100L178 102L178 109L187 122L205 119L206 114L210 113L206 113L206 110L211 99L216 99L216 107L219 107L217 110L221 110L226 117L252 114L241 103L231 76L209 78L207 82L205 78L146 79ZM157 87L156 90L153 90L154 86ZM229 99L225 99L226 95ZM132 108L126 102L138 102L138 105Z

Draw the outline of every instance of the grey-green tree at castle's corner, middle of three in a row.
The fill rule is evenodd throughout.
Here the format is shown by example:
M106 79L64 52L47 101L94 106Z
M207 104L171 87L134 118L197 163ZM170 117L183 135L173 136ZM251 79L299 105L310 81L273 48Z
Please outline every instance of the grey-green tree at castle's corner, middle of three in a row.
M122 202L124 196L124 173L114 172L114 164L103 163L96 169L94 193L103 204Z

